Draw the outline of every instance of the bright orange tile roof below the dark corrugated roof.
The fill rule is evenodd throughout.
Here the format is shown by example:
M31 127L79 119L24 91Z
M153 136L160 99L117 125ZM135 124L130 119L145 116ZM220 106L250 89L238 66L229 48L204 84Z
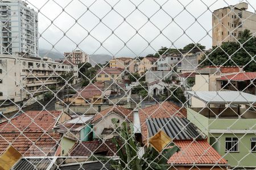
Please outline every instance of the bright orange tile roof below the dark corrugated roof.
M176 141L180 151L171 156L174 164L228 164L207 141Z

